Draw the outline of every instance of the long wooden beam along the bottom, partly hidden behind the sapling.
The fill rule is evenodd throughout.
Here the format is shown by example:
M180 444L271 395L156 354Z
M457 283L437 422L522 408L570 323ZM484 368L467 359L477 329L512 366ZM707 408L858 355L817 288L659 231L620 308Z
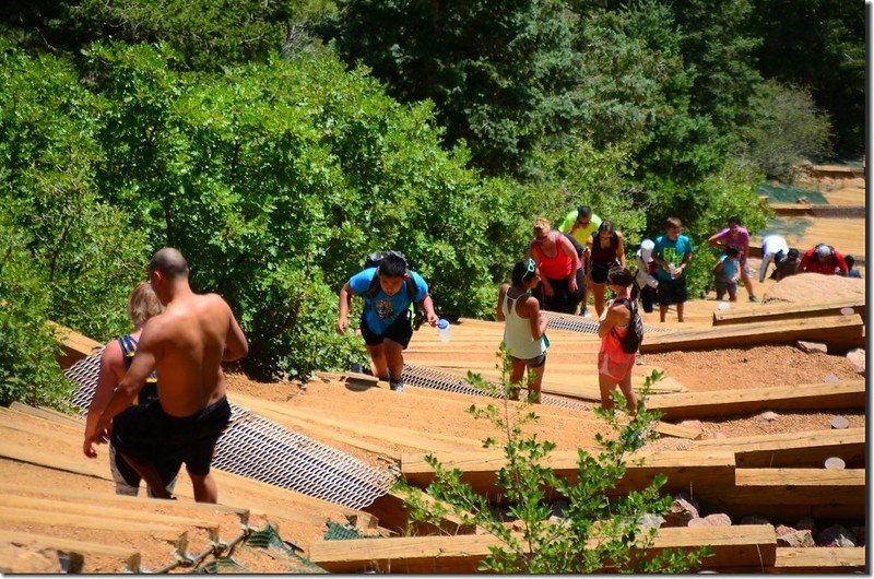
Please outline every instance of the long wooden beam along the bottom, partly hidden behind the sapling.
M489 534L314 541L307 558L330 572L474 574L489 547L498 545L498 539ZM660 529L648 553L704 545L713 550L713 556L706 559L707 568L771 566L777 551L773 527L761 524Z

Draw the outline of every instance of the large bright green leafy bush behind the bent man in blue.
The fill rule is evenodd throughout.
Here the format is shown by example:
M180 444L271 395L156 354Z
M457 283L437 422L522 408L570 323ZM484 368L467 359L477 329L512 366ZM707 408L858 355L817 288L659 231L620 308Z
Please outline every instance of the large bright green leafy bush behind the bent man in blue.
M523 252L518 216L534 193L483 181L463 147L446 153L429 105L401 106L327 54L221 78L175 72L163 46L87 55L106 102L103 194L153 248L188 257L196 288L229 300L247 370L345 366L361 345L333 331L336 291L376 249L403 249L439 311L492 311L493 272Z

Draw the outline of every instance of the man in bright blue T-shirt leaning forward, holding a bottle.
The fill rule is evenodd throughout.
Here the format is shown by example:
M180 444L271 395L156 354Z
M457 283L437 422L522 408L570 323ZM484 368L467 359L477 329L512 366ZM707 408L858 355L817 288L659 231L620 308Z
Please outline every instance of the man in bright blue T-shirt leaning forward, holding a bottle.
M346 333L352 296L364 298L362 338L370 354L374 376L389 382L394 392L403 392L403 351L413 338L410 305L418 305L437 326L437 314L428 295L428 284L406 268L406 259L398 251L387 251L378 267L365 268L340 290L340 316L336 333Z

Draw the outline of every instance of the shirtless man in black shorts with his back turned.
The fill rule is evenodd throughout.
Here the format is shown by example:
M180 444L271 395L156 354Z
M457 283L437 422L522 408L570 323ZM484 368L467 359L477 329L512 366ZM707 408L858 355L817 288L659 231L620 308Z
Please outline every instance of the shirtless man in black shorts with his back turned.
M178 250L154 255L149 282L166 309L145 323L130 369L85 433L85 456L97 456L94 445L106 441L111 422L113 445L156 497L172 498L155 462L174 456L186 463L194 500L216 503L210 462L231 418L222 362L244 357L249 345L224 299L191 291ZM130 406L153 369L161 376L158 400Z

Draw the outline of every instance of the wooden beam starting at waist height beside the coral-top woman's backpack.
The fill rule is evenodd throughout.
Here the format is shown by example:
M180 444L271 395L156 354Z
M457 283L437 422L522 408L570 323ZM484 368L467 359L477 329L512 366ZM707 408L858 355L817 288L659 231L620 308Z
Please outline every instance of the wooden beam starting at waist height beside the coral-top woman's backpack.
M864 320L858 315L823 316L652 333L640 345L640 352L749 347L757 344L791 344L799 340L825 343L832 352L864 347Z

